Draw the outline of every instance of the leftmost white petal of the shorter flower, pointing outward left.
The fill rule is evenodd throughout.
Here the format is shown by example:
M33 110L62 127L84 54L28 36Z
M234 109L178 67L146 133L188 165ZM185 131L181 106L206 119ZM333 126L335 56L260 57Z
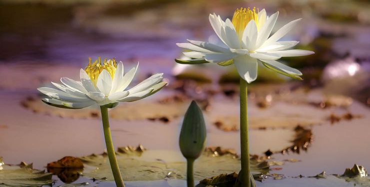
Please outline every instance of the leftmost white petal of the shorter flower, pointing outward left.
M47 95L48 97L58 99L58 100L61 100L61 101L66 101L66 102L90 101L90 99L88 99L86 97L84 97L84 98L76 97L76 96L70 95L68 93L65 93L63 91L60 91L60 90L57 90L57 89L54 89L54 88L41 87L41 88L37 88L37 90L39 92Z

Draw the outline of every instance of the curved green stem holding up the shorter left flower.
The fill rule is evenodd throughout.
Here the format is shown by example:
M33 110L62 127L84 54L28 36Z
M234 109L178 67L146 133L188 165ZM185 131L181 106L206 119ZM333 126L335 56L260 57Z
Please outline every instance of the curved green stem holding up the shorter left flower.
M115 185L117 187L124 187L123 180L119 172L117 159L115 158L114 147L113 147L112 138L110 134L108 108L100 106L100 111L101 111L101 120L103 123L106 151L108 153L109 164L110 164L110 168L113 173Z

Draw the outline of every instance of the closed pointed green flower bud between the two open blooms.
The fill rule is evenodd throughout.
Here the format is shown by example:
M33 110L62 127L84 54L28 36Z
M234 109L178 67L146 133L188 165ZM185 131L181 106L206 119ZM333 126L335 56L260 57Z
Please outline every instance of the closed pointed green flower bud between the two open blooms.
M192 101L183 118L180 132L180 150L186 159L197 159L205 146L206 130L203 114Z

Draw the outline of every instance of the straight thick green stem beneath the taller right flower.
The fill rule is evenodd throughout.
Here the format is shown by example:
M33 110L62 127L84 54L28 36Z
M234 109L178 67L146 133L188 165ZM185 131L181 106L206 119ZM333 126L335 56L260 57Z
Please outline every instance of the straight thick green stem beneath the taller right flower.
M240 78L240 152L241 152L241 186L250 187L248 111L246 81Z

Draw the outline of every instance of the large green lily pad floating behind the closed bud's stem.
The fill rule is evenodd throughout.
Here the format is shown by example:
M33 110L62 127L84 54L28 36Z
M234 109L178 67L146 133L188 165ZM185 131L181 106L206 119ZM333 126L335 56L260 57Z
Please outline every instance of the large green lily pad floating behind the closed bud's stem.
M122 152L121 150L124 150ZM131 150L131 151L130 151ZM240 171L240 160L236 154L214 152L206 149L195 161L194 180L200 181L219 174ZM80 158L84 163L83 175L96 180L113 181L113 176L105 154ZM154 181L163 179L186 179L186 163L177 151L135 151L118 148L117 161L124 181ZM269 167L281 163L255 159L250 161L251 170L268 173Z

